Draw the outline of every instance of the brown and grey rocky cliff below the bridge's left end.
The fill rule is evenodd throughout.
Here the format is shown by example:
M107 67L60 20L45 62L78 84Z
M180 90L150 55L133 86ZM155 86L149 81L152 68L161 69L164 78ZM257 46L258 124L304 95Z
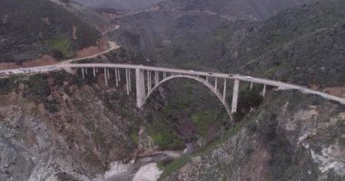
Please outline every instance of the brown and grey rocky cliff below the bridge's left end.
M129 132L140 119L133 101L113 97L121 90L65 73L11 85L0 93L0 180L103 180L111 161L132 157Z

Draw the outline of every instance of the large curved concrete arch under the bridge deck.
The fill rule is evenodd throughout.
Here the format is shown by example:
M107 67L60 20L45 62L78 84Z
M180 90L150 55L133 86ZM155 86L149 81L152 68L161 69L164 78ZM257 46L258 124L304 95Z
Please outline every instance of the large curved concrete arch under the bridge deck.
M204 86L206 86L207 88L209 88L209 90L212 90L212 92L217 96L217 98L219 100L221 100L222 105L224 106L226 112L228 113L230 119L232 118L232 111L230 110L229 104L228 102L223 98L221 92L219 92L219 90L217 90L212 83L210 83L209 81L206 81L200 77L196 77L196 76L192 76L192 75L172 75L170 77L167 77L161 81L159 81L158 84L154 85L152 90L149 90L148 93L146 94L146 96L143 99L143 104L146 103L146 101L150 98L150 96L153 94L153 92L155 90L158 89L158 87L160 87L163 83L165 83L166 81L171 81L173 79L178 79L178 78L184 78L184 79L190 79L193 81L198 81L201 82Z

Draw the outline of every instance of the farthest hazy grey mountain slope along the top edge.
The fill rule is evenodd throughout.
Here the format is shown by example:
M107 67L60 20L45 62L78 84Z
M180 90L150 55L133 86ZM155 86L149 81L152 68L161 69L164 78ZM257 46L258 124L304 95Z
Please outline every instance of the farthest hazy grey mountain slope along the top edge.
M166 9L181 9L183 11L204 11L209 14L220 14L224 18L262 20L277 14L281 10L310 4L315 0L168 0L160 5Z

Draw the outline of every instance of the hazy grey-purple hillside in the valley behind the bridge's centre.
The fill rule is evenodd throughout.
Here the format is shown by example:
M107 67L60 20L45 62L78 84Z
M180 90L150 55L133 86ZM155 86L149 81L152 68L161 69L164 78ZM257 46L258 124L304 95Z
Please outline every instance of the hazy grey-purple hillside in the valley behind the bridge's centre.
M217 44L217 40L209 38L212 30L232 24L217 15L182 11L143 12L115 19L113 23L121 26L116 33L110 33L116 42L143 53L149 59L175 65L178 63L174 62L178 61L192 63L197 52L201 54L194 59L202 56L202 59L212 58L222 46L222 43ZM233 29L235 26L232 24ZM185 57L184 52L188 52Z

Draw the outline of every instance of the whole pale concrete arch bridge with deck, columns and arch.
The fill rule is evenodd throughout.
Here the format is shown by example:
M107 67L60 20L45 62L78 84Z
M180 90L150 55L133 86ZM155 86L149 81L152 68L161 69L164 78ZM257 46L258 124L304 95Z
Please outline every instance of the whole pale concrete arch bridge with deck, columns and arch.
M81 69L82 76L85 79L86 73L92 73L96 76L98 71L104 72L104 81L108 85L110 76L115 78L116 87L119 86L119 82L125 80L127 94L130 94L132 90L132 81L135 81L135 93L136 93L136 106L142 108L146 101L153 94L153 91L161 86L164 82L173 79L185 78L198 81L202 83L206 88L212 90L216 97L222 102L225 110L232 116L232 113L237 111L240 82L253 83L263 85L262 96L266 94L266 87L277 87L280 90L301 90L304 93L319 95L328 100L338 101L341 104L345 104L345 99L336 97L321 91L311 90L299 85L291 83L285 83L281 81L271 81L267 79L255 78L250 76L243 76L239 74L227 74L220 72L206 72L206 71L192 71L171 69L153 66L133 65L133 64L115 64L115 63L66 63L57 64L54 67L59 69ZM124 72L124 73L123 73ZM135 74L133 78L131 75ZM122 76L124 74L124 77ZM227 83L233 81L232 91L232 104L226 101Z

